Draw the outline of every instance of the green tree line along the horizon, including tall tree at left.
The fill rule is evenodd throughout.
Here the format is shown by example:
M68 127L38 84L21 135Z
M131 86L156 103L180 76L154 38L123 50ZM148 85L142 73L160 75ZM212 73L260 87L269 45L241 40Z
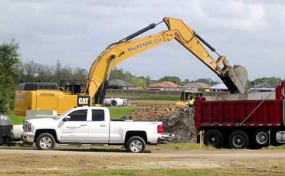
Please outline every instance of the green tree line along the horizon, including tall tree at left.
M57 82L59 84L62 79L85 80L87 70L82 68L71 68L70 66L62 66L57 60L54 65L39 64L32 60L22 62L20 59L19 43L12 39L10 43L0 45L0 113L6 114L13 109L13 100L15 88L22 82ZM192 83L203 82L208 85L215 85L219 82L213 81L211 78L199 78L197 80L181 79L177 76L164 76L158 80L151 80L151 77L134 76L129 71L114 68L110 74L110 80L122 79L134 84L137 89L146 89L146 87L154 82L171 81L180 86ZM262 77L253 81L248 81L247 87L252 87L261 83L277 83L281 81L281 77ZM285 80L285 79L283 79Z

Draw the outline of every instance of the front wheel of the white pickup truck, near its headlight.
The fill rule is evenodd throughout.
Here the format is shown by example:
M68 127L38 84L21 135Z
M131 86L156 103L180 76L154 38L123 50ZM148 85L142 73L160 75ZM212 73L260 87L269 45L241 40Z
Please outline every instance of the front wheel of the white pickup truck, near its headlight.
M56 146L56 140L50 133L42 133L36 139L38 150L53 150Z

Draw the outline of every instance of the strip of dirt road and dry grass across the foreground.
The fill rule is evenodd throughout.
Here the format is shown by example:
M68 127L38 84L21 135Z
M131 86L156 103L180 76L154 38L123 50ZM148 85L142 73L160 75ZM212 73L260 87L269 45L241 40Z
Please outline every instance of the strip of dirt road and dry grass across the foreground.
M103 175L102 172L109 175L108 172L118 171L131 172L128 175L136 176L164 175L156 173L159 169L184 175L285 175L284 150L158 150L127 153L126 150L86 151L83 148L76 151L1 149L0 162L1 175Z

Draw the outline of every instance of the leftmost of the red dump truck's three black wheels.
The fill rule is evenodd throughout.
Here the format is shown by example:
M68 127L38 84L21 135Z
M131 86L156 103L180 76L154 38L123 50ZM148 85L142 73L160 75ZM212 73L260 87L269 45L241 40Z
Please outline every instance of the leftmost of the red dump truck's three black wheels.
M216 130L216 129L210 129L209 131L206 131L204 134L203 142L204 145L210 145L215 148L221 148L224 141L223 134Z

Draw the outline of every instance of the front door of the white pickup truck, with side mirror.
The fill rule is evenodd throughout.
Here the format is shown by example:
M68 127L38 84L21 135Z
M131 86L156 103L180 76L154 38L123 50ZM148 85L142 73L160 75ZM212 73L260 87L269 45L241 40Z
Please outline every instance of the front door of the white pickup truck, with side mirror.
M86 142L88 140L87 110L77 110L68 114L70 121L60 122L60 141Z

